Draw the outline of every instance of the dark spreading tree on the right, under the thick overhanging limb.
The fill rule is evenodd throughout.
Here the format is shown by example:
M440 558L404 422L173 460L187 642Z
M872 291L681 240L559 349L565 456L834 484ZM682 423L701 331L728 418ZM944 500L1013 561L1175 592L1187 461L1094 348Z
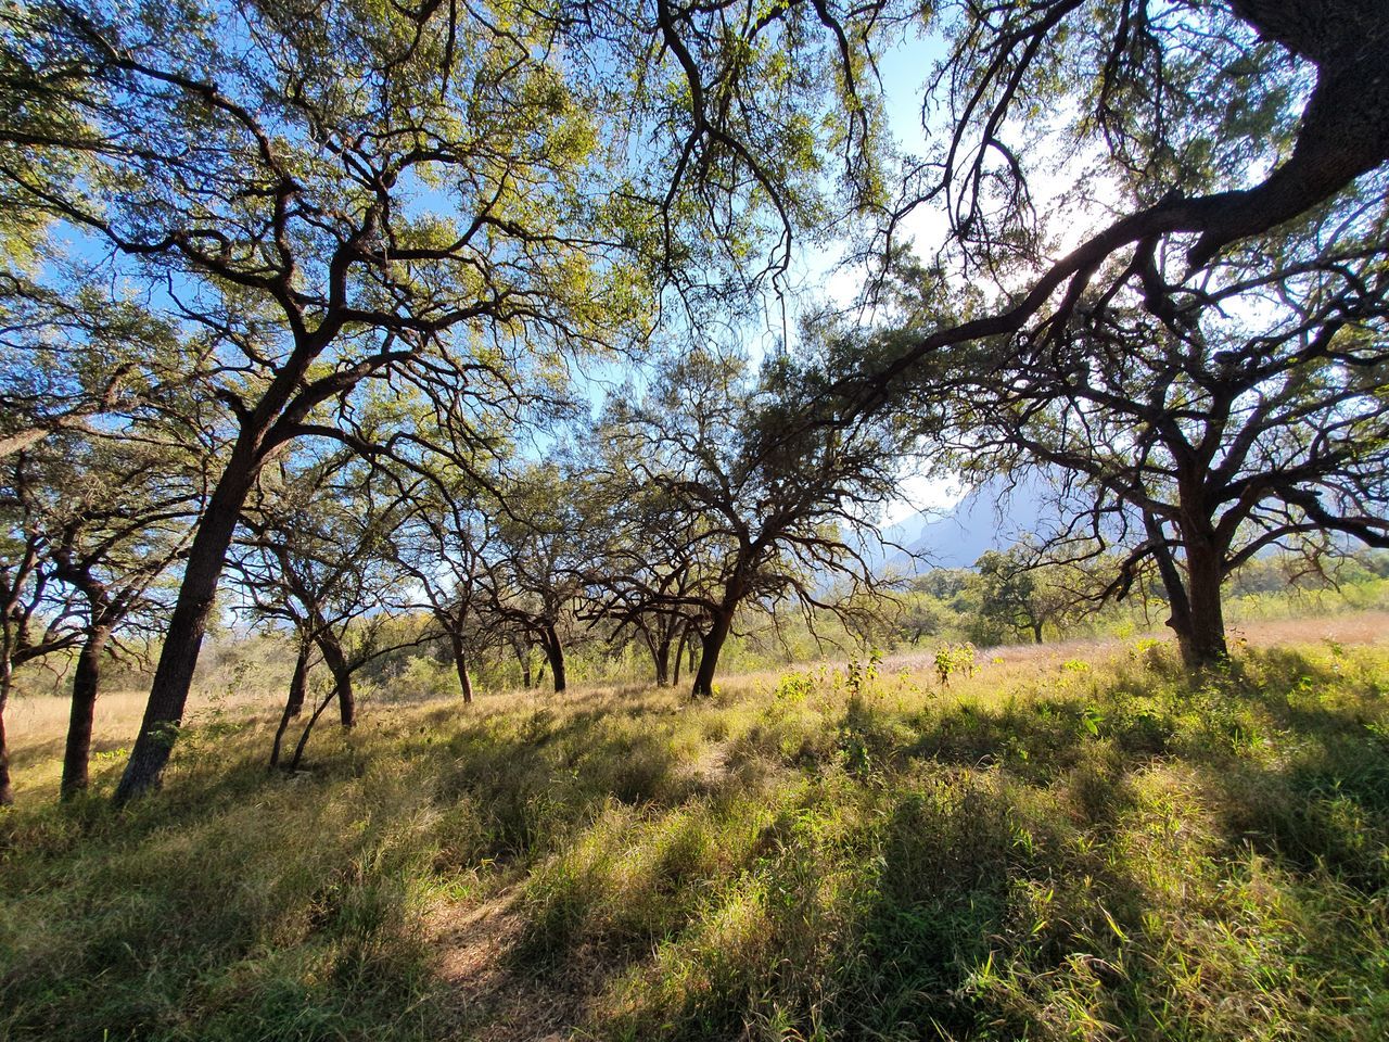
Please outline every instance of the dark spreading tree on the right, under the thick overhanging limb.
M1165 320L1111 303L1049 357L970 363L986 375L967 381L958 446L1060 475L1076 514L1053 542L1124 547L1111 596L1156 570L1193 667L1225 654L1221 586L1256 554L1389 546L1389 282L1370 226L1315 253L1235 251Z

